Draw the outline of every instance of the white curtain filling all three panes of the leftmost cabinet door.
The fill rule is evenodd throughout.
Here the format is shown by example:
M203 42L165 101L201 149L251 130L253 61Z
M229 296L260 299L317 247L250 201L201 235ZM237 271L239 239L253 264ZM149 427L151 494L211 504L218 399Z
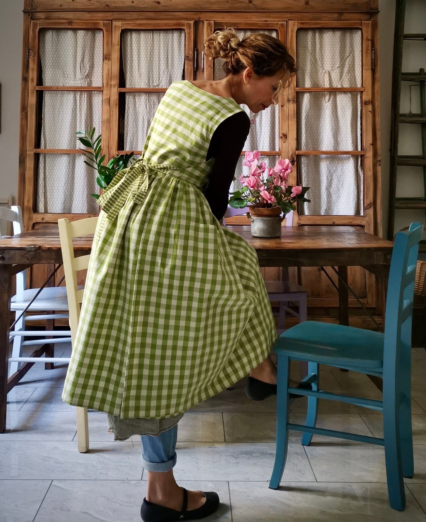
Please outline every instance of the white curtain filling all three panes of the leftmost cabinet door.
M102 86L102 31L48 29L40 32L41 85ZM76 132L101 131L102 92L39 91L40 148L75 149ZM40 107L42 105L42 107ZM36 211L97 213L95 171L81 154L46 153L38 160Z

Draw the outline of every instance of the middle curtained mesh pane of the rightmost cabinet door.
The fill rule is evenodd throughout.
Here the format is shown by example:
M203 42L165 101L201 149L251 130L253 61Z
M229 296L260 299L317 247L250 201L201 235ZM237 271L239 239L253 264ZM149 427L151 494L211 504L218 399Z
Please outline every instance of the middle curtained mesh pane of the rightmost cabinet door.
M360 92L298 92L298 150L361 150Z

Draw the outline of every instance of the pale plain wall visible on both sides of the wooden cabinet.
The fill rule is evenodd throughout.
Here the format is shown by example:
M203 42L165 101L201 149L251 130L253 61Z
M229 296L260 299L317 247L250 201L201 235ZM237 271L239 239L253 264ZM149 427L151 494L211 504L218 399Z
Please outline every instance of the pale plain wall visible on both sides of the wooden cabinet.
M410 6L414 8L411 9ZM18 139L19 104L22 48L22 0L0 0L0 82L2 84L2 132L0 133L0 200L9 194L16 196L18 190ZM395 0L380 0L379 48L380 48L380 119L382 146L382 186L383 186L383 232L386 235L387 203L389 189L389 147L391 129L391 84L392 57L395 20ZM406 32L426 32L426 2L407 0ZM413 72L420 67L426 69L426 42L407 42L405 50L410 50L411 59L404 56L404 70ZM424 51L423 51L424 50ZM407 87L407 86L405 86ZM417 89L418 91L418 89ZM415 91L412 91L414 94ZM417 93L416 93L417 94ZM406 109L407 97L403 93ZM415 111L415 106L412 107ZM400 154L420 154L420 126L405 125L401 128ZM421 169L403 167L397 186L398 196L419 196L423 194ZM411 220L424 222L424 211L399 210L396 227L400 229Z

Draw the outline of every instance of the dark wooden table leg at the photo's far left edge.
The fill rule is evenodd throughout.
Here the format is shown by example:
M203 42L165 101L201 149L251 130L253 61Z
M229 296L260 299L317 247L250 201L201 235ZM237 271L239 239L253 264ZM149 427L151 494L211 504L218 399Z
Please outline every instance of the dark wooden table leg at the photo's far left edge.
M8 265L0 265L0 433L6 430L7 366L9 360L9 325L11 277Z

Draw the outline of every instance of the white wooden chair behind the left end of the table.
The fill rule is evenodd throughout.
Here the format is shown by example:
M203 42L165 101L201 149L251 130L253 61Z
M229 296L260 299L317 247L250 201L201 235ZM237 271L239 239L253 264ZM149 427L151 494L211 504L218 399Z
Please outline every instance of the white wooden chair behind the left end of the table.
M0 219L11 221L13 223L14 234L23 232L22 212L21 208L11 206L10 208L0 207ZM5 239L8 236L3 236ZM70 330L26 330L27 322L46 320L47 328L53 328L54 319L68 318L68 302L66 289L64 287L43 288L34 302L29 306L28 312L40 312L36 315L22 314L34 295L39 291L38 288L26 289L26 271L23 270L16 275L16 294L11 298L10 310L15 312L15 328L10 332L9 340L13 341L12 356L9 358L10 371L9 376L18 371L23 362L44 363L46 367L52 368L55 362L66 363L69 358L64 357L22 357L23 346L43 346L45 344L57 344L71 341ZM54 313L54 312L60 313ZM19 318L19 316L21 316ZM24 341L25 337L36 337ZM56 337L58 336L58 337ZM51 339L51 337L53 337ZM46 339L48 338L48 339ZM46 354L47 355L47 354ZM52 353L54 355L54 353Z

